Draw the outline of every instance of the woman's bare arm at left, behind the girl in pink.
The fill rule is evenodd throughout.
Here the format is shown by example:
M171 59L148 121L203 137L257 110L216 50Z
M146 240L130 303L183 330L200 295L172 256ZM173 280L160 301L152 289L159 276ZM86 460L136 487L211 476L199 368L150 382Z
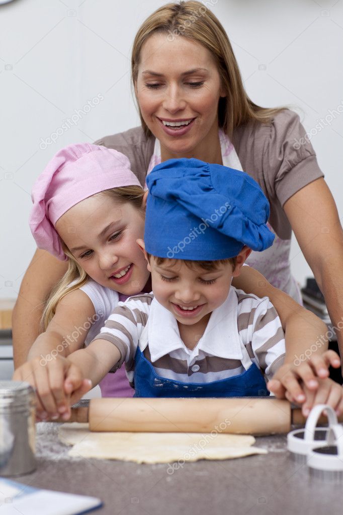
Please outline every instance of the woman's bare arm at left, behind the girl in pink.
M56 259L45 250L35 251L12 314L15 368L25 363L31 345L40 334L44 302L66 270L67 262Z

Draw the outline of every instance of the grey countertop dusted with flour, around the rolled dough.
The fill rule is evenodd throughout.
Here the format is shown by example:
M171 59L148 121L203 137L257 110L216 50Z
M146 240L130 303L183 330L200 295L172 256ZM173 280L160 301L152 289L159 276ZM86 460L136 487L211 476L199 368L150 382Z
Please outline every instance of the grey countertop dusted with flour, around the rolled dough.
M268 454L168 465L70 458L60 424L37 424L37 470L13 478L51 490L100 497L99 515L341 514L341 484L309 475L286 450L286 436L256 438ZM170 469L169 469L170 471ZM44 514L44 509L42 510ZM40 515L40 514L37 514Z

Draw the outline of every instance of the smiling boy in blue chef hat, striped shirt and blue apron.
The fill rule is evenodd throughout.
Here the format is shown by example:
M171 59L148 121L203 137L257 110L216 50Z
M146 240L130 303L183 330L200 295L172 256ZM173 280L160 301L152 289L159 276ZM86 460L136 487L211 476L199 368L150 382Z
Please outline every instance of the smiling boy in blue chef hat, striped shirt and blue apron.
M266 396L285 352L267 298L230 287L251 249L273 243L269 205L248 175L195 159L147 177L152 294L119 303L86 349L68 356L97 384L125 362L140 397Z

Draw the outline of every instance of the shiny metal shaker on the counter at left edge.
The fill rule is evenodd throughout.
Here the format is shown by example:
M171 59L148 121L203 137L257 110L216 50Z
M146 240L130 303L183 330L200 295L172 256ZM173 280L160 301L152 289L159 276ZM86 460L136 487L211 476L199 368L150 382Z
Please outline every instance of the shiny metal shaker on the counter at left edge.
M35 470L35 394L20 381L0 380L0 476Z

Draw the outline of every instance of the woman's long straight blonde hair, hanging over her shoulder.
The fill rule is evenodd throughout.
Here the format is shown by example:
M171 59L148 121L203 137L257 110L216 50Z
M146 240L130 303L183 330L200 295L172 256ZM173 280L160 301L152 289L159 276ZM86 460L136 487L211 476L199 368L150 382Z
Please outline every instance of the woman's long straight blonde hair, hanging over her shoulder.
M227 96L219 100L219 126L231 137L233 130L248 122L268 123L285 108L264 108L257 106L246 94L236 58L227 34L214 14L200 2L170 3L153 12L141 25L134 40L131 70L132 81L137 83L140 53L143 44L153 33L162 33L171 41L183 36L200 43L212 54ZM138 106L139 108L139 106ZM142 128L146 136L151 131L142 118Z

